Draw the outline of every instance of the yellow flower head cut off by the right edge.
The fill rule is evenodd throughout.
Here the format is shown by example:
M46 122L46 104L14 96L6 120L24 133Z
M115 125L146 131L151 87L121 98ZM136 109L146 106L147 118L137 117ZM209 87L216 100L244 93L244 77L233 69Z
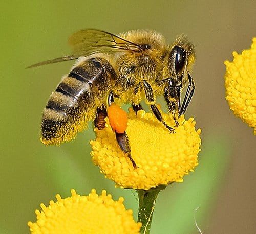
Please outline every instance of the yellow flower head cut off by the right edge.
M242 54L233 52L233 62L225 61L226 100L230 109L250 127L256 135L256 38L251 49Z

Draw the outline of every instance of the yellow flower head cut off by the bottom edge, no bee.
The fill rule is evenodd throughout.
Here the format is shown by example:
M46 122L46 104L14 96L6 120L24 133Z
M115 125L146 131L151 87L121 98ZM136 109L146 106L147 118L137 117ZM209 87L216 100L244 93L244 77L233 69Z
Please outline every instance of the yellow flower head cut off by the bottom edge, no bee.
M126 210L123 198L114 201L103 190L101 195L93 189L88 196L80 196L71 190L71 197L57 202L50 201L42 211L35 211L36 223L28 222L31 233L139 233L141 223L133 220L132 210Z

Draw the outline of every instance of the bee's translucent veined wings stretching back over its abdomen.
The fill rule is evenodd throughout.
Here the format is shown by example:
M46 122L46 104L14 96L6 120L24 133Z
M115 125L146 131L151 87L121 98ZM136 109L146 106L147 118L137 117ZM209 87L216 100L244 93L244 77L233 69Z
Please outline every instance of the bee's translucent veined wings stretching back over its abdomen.
M39 62L27 68L42 66L51 63L77 59L79 56L89 56L95 53L115 53L118 51L139 51L140 45L127 41L112 33L97 29L83 29L69 38L69 44L73 49L72 55L67 55L44 62Z

